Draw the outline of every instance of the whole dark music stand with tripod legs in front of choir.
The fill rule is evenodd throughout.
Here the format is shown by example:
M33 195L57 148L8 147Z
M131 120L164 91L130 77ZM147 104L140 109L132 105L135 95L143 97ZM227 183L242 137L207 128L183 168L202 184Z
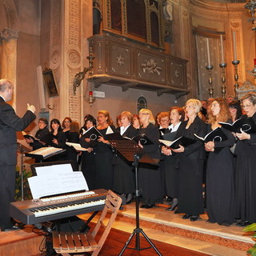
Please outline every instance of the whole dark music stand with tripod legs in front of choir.
M126 245L123 246L120 254L118 256L122 255L122 253L127 249L132 249L132 250L146 250L153 248L158 255L162 256L158 249L154 246L153 242L150 241L150 238L147 237L145 232L140 228L139 226L139 202L138 202L138 197L139 197L139 191L138 191L138 164L139 162L145 162L145 163L151 163L151 164L157 164L158 160L150 158L146 154L142 154L141 147L138 146L137 142L134 142L133 140L109 140L111 146L114 146L116 150L124 158L126 158L129 162L133 162L133 166L135 168L135 202L136 202L136 228L134 229L134 232L130 234L130 238L127 240ZM136 234L136 240L135 240L135 247L127 247L129 246L132 238L134 238L134 235ZM150 247L146 248L141 248L140 246L140 237L139 235L142 234L144 238L146 238L146 241L150 243Z

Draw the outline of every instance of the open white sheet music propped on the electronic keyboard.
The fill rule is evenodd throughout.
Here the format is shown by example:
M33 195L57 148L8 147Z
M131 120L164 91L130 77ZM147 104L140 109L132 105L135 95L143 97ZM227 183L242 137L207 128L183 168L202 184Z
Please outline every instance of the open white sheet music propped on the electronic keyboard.
M89 190L82 171L73 171L71 162L47 162L35 168L37 176L28 178L34 199Z

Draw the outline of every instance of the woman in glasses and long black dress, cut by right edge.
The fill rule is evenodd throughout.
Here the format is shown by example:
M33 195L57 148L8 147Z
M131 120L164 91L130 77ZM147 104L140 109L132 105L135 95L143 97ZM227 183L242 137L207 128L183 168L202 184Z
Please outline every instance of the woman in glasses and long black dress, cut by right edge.
M256 94L250 92L241 99L245 115L256 123ZM256 134L250 131L235 133L238 138L234 154L237 155L235 178L235 217L237 226L247 226L256 222Z

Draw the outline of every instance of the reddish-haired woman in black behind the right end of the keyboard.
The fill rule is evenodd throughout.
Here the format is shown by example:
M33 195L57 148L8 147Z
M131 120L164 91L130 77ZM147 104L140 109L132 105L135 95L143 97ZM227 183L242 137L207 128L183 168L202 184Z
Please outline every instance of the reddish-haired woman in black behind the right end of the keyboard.
M97 129L102 134L98 138L98 143L94 146L95 154L95 186L96 189L113 189L113 179L114 179L114 166L113 166L113 151L104 136L106 135L106 130L110 126L114 130L113 121L110 118L110 113L106 110L98 111L98 126Z

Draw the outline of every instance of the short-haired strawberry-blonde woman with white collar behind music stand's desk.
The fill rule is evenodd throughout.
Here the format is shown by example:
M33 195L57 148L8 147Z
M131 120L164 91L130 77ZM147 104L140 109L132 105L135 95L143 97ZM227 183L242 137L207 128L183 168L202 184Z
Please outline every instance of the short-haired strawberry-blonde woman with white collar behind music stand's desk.
M138 130L131 125L133 114L123 111L121 114L121 126L117 128L122 137L134 138ZM135 193L134 166L127 162L121 155L114 157L114 191L126 195L126 203L130 203Z

